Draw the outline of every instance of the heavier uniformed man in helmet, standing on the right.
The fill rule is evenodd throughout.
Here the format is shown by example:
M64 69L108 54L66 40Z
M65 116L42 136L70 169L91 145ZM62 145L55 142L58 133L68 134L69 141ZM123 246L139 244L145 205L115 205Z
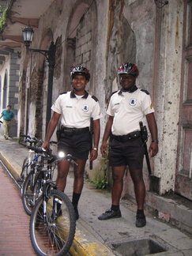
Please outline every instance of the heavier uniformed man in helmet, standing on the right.
M104 132L101 153L107 155L107 140L111 137L109 164L112 167L112 204L111 209L101 214L99 220L108 220L122 216L119 201L122 194L123 176L126 165L134 183L137 201L136 227L146 224L144 213L145 183L142 175L145 148L141 140L139 122L146 118L152 135L149 146L151 156L158 152L157 127L154 109L149 92L137 88L136 78L139 74L133 63L123 63L119 67L121 90L112 94L107 108L108 121Z

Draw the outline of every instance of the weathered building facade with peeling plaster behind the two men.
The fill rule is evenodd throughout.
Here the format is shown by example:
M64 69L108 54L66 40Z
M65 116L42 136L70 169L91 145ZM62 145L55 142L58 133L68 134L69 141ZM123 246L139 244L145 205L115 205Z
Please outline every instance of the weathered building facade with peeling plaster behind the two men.
M32 48L47 50L51 42L56 47L52 102L48 104L70 90L71 66L86 66L91 73L88 92L100 100L104 115L101 137L111 92L119 88L117 70L122 62L136 63L140 71L137 86L150 92L159 130L159 153L151 160L153 189L192 200L192 1L170 0L168 5L157 0L33 1L36 8L44 5L40 13L30 2L12 2L0 42L1 49L21 51L17 136L24 132L44 138L46 133L46 58L26 51L19 30L14 35L12 29L9 35L11 26L17 25L21 32L29 22L34 29ZM110 172L102 156L93 167L92 172L87 168L91 179L104 179ZM146 165L144 175L149 190ZM123 196L127 195L134 197L129 171L123 190Z

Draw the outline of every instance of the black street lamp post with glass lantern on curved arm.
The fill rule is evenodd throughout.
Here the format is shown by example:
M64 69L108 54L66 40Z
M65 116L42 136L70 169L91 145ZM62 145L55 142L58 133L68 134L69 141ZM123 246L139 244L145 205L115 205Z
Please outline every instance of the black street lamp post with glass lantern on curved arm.
M48 85L47 85L47 112L46 112L46 132L48 123L51 119L51 105L52 105L52 89L53 89L53 74L54 74L54 66L55 66L55 43L51 42L48 50L41 49L32 49L29 46L32 43L33 29L28 24L27 27L22 29L24 45L27 48L27 51L40 52L40 54L44 55L47 59L49 72L48 72Z

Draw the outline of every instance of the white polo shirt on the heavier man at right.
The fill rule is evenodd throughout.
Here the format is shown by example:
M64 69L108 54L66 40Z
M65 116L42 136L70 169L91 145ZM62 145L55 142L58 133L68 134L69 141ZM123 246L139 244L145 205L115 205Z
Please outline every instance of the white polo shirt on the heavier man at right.
M114 116L112 134L126 135L140 130L139 122L143 122L145 115L152 112L154 108L149 92L139 88L134 92L115 92L107 108L107 115Z

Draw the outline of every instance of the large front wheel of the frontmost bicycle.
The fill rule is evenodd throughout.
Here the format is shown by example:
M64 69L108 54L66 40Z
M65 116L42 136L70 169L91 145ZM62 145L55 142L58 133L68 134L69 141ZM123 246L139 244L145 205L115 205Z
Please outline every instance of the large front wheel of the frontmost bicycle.
M59 206L61 205L62 216L57 217L54 214L53 205L55 205L55 201ZM76 229L76 220L70 198L62 191L50 190L47 197L46 213L47 223L44 223L42 195L36 201L30 217L29 228L32 247L36 254L40 256L66 255L73 243Z

